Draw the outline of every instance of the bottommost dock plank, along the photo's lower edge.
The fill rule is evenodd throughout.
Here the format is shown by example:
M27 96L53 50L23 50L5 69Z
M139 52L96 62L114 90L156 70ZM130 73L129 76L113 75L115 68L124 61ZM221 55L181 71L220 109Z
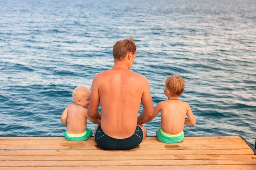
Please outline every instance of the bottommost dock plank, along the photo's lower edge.
M4 167L4 170L255 170L255 165L116 166L116 167Z

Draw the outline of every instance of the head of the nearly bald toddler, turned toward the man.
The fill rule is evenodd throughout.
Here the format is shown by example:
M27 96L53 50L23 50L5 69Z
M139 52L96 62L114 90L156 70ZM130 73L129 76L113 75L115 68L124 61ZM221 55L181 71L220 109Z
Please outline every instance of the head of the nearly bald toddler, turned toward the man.
M84 86L76 87L73 90L72 98L76 104L87 107L89 105L90 89Z

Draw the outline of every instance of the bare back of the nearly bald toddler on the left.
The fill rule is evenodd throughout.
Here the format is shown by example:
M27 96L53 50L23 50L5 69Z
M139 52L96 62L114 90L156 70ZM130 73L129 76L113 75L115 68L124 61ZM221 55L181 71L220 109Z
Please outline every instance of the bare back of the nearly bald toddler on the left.
M87 109L77 104L67 107L67 133L81 134L87 127Z

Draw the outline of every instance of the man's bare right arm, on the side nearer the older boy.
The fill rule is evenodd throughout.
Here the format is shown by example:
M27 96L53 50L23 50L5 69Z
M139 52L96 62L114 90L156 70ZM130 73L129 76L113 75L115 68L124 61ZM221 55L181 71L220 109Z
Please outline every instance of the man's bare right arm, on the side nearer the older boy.
M145 78L145 77L144 77ZM150 87L148 80L145 78L145 83L143 83L144 92L141 97L141 103L143 105L143 111L138 116L138 124L145 122L150 116L152 116L154 111L153 101L150 93Z

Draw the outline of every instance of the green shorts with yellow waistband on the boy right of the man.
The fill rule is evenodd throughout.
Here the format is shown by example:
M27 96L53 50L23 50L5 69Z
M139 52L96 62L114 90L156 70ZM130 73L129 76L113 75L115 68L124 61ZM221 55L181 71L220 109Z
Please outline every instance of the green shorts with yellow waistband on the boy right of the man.
M157 130L157 138L160 142L163 143L178 143L183 141L184 139L184 132L177 135L169 135L167 133L164 133L164 131L160 128Z

